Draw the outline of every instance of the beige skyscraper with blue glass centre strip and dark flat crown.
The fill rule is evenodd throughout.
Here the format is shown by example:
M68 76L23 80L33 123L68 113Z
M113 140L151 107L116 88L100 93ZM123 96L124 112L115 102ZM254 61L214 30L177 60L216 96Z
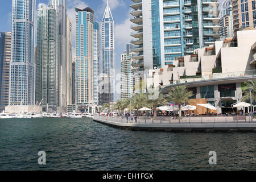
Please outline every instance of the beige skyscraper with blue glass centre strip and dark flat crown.
M88 111L93 100L93 14L90 7L76 11L76 105Z

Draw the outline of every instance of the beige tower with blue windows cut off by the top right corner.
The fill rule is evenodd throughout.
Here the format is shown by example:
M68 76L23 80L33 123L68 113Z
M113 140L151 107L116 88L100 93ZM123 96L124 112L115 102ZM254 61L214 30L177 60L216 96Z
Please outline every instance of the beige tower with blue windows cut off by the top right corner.
M246 27L256 27L256 7L252 0L232 1L234 32Z

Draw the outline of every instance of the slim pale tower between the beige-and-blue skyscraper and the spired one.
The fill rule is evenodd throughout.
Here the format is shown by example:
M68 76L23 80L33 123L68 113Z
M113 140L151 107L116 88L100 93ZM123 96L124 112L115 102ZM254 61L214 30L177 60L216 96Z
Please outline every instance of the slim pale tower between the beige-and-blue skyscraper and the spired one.
M100 57L101 57L101 34L98 22L93 23L93 97L94 104L100 100Z

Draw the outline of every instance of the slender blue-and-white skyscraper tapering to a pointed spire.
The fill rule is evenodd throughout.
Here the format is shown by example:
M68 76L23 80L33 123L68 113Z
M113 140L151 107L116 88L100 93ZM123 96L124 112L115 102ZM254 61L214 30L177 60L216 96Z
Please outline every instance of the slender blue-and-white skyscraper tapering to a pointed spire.
M101 31L103 73L101 79L105 79L105 81L101 81L102 88L100 89L100 104L102 105L106 102L113 102L115 93L114 20L109 3L102 18ZM110 89L106 89L108 85L110 85Z

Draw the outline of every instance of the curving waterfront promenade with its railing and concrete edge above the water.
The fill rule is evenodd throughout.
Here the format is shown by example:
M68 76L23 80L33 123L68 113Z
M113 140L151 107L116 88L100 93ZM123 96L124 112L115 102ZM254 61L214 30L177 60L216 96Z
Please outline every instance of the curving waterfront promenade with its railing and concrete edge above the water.
M246 120L244 119L246 118ZM93 120L100 122L104 125L117 127L120 129L130 130L147 130L147 131L178 131L178 132L190 132L190 131L256 131L256 119L251 121L250 117L243 117L239 119L239 116L234 117L156 117L147 118L140 117L137 122L128 121L122 117L102 117L95 116Z

